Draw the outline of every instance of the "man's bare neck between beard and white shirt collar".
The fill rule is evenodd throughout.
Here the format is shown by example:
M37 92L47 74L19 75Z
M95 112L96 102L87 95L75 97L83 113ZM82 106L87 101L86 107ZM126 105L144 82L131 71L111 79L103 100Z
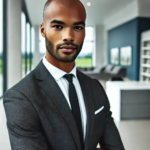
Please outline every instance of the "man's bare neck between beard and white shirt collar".
M57 59L55 59L53 56L49 55L46 53L46 60L51 63L53 66L69 73L74 65L75 65L75 61L73 62L60 62Z

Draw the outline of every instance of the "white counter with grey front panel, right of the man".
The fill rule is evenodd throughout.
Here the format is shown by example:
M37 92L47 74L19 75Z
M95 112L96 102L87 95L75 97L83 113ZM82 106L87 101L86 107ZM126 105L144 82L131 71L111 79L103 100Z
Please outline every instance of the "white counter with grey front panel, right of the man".
M106 93L115 121L150 119L150 84L137 81L107 81Z

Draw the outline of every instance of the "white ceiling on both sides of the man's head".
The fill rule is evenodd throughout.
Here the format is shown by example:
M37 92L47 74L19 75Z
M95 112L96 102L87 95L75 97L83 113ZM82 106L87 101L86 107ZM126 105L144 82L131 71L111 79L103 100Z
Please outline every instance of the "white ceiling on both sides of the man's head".
M42 23L43 7L47 0L25 0L32 25ZM87 12L87 25L103 24L113 14L135 0L81 0ZM87 6L91 2L91 6Z

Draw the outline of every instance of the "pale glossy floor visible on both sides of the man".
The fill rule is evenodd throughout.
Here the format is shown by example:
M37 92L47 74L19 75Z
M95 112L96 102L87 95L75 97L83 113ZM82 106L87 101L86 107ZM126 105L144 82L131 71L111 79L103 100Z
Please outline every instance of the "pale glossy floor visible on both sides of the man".
M5 113L0 101L0 150L11 150ZM150 149L150 120L130 120L116 123L126 150Z

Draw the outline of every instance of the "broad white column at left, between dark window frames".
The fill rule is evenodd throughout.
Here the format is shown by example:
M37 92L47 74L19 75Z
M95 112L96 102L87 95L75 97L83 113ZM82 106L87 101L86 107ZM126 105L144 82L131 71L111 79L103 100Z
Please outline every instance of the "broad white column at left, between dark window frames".
M7 79L8 88L16 84L21 74L21 0L8 0L8 51Z

